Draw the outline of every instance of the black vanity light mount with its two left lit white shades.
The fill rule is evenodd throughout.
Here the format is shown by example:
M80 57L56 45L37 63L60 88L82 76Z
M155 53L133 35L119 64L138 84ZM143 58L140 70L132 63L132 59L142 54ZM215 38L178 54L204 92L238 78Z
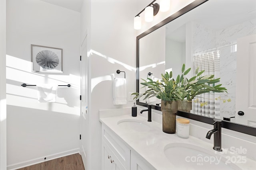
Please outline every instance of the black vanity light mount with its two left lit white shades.
M139 14L137 14L134 18L134 29L141 29L141 18L140 14L145 11L145 21L151 22L153 21L153 17L158 13L160 6L158 3L155 3L156 0L153 0L146 8L144 8Z

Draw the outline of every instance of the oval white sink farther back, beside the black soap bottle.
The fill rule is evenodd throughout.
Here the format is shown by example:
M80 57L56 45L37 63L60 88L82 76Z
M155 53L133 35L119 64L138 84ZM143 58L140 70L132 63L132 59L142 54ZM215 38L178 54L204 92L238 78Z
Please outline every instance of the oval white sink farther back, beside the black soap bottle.
M129 130L133 130L133 131L148 131L150 130L150 125L148 125L147 123L140 121L140 120L136 120L136 119L123 119L118 121L118 126L122 127L122 128L126 128Z

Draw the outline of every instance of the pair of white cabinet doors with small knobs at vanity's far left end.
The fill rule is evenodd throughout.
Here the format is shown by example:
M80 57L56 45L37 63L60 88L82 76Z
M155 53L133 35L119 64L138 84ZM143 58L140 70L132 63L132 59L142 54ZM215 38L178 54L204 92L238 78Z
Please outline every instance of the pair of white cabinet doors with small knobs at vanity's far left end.
M102 170L126 170L104 140L102 140L102 152Z

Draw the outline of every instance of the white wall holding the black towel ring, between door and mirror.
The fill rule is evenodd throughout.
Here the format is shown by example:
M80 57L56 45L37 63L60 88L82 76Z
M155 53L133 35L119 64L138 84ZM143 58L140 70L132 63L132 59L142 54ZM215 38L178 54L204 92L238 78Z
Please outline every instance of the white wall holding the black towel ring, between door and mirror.
M136 31L133 29L133 18L136 15L136 0L85 0L91 3L89 23L81 23L81 30L88 29L90 71L88 114L89 114L89 149L88 169L101 169L101 123L100 109L131 107L113 105L114 77L116 70L126 72L127 92L136 92ZM86 8L82 8L86 10ZM81 15L86 12L81 11ZM86 16L81 16L81 18ZM88 20L87 20L88 21ZM86 22L83 20L82 22Z

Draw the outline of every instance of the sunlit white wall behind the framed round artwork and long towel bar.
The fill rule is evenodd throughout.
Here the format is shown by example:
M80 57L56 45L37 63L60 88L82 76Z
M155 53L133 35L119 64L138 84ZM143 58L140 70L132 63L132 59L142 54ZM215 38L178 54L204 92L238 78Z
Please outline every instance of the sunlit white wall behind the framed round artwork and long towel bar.
M40 0L8 0L6 6L10 169L79 151L80 13ZM62 48L63 74L31 72L30 44ZM36 87L22 83L72 87L59 87L54 103L38 103Z

